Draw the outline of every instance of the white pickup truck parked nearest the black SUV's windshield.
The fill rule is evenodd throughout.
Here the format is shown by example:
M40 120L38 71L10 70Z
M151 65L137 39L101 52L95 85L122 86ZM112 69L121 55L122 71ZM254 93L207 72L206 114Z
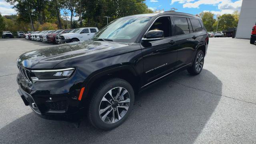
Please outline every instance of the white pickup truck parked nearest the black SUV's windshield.
M98 31L98 28L78 28L71 33L61 34L59 40L60 43L89 40Z

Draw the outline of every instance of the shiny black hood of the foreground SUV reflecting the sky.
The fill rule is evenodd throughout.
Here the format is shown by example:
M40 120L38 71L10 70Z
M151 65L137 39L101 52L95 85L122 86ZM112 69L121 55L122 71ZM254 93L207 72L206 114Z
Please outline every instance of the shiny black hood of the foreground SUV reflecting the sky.
M20 66L31 69L54 68L64 60L72 60L80 56L105 52L128 45L118 42L92 40L73 42L26 52L18 57L17 63Z

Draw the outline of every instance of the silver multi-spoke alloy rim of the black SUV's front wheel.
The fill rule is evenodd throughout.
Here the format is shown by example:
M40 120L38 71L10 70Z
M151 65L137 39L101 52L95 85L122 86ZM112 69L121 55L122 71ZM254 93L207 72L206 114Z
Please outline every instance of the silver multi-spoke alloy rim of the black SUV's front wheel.
M129 106L130 94L128 90L123 87L112 88L100 102L100 118L107 124L114 124L126 115Z

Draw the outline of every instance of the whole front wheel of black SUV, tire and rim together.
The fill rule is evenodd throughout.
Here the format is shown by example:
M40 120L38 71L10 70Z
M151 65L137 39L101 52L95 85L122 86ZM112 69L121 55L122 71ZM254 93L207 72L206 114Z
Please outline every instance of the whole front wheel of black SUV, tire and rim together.
M93 126L111 130L122 124L132 110L134 91L120 78L106 80L94 90L88 118Z

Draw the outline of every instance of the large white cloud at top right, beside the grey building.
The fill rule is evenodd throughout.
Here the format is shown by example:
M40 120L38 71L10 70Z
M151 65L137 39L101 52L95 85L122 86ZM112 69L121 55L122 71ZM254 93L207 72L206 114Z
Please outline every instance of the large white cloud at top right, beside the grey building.
M202 4L208 4L216 6L218 5L218 10L220 11L210 11L213 14L232 14L234 11L240 11L242 6L242 0L237 0L232 2L231 0L198 0L194 3L187 2L183 4L183 8L199 8Z

